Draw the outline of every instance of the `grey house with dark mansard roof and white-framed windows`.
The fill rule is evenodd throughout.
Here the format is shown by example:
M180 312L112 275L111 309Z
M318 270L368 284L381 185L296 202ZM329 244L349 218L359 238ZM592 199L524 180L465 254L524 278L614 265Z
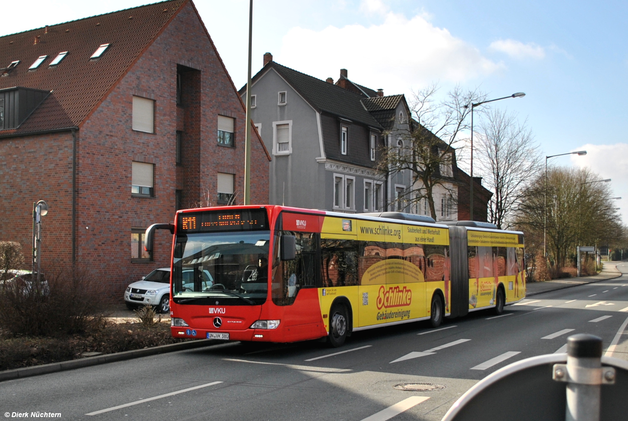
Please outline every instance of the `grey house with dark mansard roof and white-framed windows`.
M273 154L269 204L345 213L398 210L429 215L423 203L396 200L411 188L409 173L382 176L382 146L398 146L411 119L404 95L385 97L347 78L320 80L273 61L252 78L252 120ZM246 85L239 91L246 101ZM438 220L457 220L458 183L435 198Z

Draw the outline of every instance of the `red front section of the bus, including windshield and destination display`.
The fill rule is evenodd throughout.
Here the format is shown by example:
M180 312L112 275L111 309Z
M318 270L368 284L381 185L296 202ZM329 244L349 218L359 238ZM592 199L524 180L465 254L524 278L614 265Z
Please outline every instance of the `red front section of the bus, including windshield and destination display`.
M173 337L292 342L326 336L318 282L296 267L302 260L284 260L280 239L290 235L282 228L278 206L179 211L171 277ZM298 241L300 252L308 248L307 239ZM291 266L294 270L288 270ZM293 274L284 275L286 270Z

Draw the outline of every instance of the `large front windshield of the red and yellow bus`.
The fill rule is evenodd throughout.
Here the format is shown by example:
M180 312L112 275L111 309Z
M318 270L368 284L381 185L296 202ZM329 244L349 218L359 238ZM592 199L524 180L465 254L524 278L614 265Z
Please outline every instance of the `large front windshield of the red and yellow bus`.
M173 299L177 304L263 304L268 292L269 231L177 235Z

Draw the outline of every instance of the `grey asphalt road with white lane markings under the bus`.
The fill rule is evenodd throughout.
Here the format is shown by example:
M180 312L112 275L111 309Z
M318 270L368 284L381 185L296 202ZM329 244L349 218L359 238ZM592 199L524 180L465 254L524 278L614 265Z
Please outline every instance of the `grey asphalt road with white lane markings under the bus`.
M530 356L563 352L570 334L596 334L605 351L617 338L607 354L628 360L628 340L618 335L628 323L628 264L617 269L624 274L619 279L530 297L499 317L478 311L439 329L418 322L363 331L337 349L318 342L224 343L4 381L0 417L440 420L484 376ZM445 388L406 392L393 387L400 383Z

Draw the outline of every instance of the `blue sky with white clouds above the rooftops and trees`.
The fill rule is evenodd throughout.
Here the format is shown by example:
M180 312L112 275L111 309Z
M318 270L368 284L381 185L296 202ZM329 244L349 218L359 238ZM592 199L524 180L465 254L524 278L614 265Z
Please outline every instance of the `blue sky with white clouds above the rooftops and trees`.
M151 3L30 0L3 5L0 36ZM246 0L197 0L237 87L246 83ZM318 78L349 78L386 95L438 82L479 87L528 119L544 155L612 178L628 221L628 5L619 1L256 0L253 73L263 53ZM0 63L1 65L1 63Z

